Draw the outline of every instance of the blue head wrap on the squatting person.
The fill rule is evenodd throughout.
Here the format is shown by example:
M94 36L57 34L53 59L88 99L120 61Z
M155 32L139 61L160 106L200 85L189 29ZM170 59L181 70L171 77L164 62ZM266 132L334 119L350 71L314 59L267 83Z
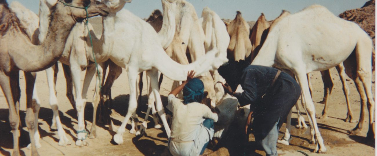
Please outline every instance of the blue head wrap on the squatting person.
M191 79L183 88L183 103L201 102L204 98L204 85L198 78Z

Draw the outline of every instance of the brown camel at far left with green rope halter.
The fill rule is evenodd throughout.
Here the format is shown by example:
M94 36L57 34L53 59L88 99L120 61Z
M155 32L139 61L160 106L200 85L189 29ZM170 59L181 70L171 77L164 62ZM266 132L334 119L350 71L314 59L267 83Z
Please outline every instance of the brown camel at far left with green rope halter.
M90 4L87 9L89 17L107 15L108 13L107 7L95 0L73 0L69 4L78 7ZM59 2L53 7L46 40L41 45L33 45L15 13L8 8L5 0L0 0L0 86L9 106L9 123L14 144L12 155L20 154L18 148L20 134L19 71L25 72L25 121L32 144L32 155L39 155L34 142L34 131L38 128L37 116L34 114L38 114L40 106L32 101L35 74L31 72L45 70L58 61L70 30L76 21L82 21L84 18L86 18L84 9L65 7L63 1Z

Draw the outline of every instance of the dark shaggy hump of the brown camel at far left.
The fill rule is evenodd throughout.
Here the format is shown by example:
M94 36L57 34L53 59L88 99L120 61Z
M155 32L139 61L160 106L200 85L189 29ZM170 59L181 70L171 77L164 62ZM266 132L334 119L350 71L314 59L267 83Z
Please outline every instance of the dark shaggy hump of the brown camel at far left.
M5 35L9 29L19 29L28 36L16 14L9 9L8 3L5 0L0 0L0 34Z

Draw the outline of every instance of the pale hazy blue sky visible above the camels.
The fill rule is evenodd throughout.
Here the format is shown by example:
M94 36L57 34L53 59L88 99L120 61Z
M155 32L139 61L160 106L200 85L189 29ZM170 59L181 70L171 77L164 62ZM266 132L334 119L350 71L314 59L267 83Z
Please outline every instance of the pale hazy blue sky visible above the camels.
M7 0L11 3L14 0ZM362 7L368 0L187 0L195 7L196 14L200 17L204 7L208 6L215 11L220 18L233 19L236 11L242 12L246 21L256 21L263 12L267 20L273 20L281 11L291 13L303 8L318 4L328 8L335 15L343 11ZM26 8L38 14L38 0L18 0ZM147 18L154 9L162 10L160 0L132 0L124 8L130 10L140 18Z

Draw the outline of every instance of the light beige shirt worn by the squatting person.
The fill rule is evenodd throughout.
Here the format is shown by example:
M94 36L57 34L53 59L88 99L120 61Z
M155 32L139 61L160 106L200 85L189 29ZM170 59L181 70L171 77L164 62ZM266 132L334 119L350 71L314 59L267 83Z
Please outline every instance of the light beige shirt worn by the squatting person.
M204 104L193 102L185 105L182 100L173 94L168 95L167 108L173 112L171 138L180 141L194 141L203 131L207 131L210 139L213 137L213 129L203 126L205 118L217 122L218 116Z

